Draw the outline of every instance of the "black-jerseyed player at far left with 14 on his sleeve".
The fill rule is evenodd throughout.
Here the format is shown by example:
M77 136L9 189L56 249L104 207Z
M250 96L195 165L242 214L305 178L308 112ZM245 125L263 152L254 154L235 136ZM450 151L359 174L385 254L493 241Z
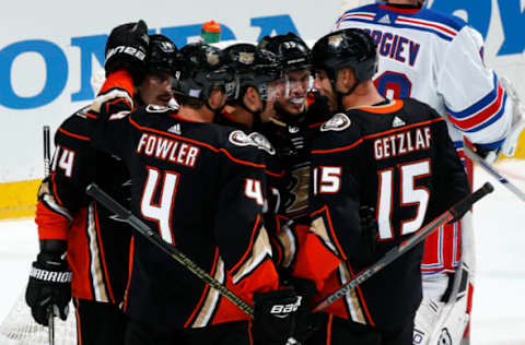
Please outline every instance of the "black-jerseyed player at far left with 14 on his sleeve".
M120 28L108 37L108 74L121 68L112 49L117 47L114 40L125 35L127 32ZM135 86L130 82L131 95L136 94L130 107L133 103L167 105L173 97L170 75L176 47L162 35L152 35L149 40L149 46L144 38L140 47L148 59L140 63ZM126 321L119 304L128 276L131 234L125 223L93 202L84 190L96 182L127 204L129 174L120 160L90 145L86 110L69 117L55 136L51 175L38 191L35 221L40 252L33 263L26 301L35 321L47 325L49 306L55 306L55 313L66 320L73 297L78 344L118 345L124 344Z

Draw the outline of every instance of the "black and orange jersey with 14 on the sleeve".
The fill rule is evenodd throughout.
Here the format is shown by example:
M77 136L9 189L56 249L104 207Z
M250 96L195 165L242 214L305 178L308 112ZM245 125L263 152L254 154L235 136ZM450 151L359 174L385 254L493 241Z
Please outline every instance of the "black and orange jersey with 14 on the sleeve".
M51 174L38 191L38 237L68 242L72 296L119 304L127 283L129 227L85 194L95 182L127 204L129 175L124 164L91 146L86 108L69 117L55 135Z

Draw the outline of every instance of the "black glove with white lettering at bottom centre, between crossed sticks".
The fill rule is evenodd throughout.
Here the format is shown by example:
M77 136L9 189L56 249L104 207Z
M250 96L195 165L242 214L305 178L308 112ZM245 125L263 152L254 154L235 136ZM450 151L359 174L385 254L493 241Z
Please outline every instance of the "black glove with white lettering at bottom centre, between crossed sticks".
M255 345L281 345L292 336L301 304L293 289L255 295L252 334Z

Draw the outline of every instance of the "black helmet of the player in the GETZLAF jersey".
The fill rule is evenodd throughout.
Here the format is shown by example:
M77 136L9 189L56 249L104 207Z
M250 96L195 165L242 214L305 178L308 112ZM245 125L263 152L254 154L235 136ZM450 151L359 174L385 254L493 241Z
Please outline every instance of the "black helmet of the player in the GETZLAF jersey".
M325 70L331 82L336 73L350 68L357 83L371 80L377 72L377 48L366 32L360 28L345 28L319 38L312 49L313 68Z

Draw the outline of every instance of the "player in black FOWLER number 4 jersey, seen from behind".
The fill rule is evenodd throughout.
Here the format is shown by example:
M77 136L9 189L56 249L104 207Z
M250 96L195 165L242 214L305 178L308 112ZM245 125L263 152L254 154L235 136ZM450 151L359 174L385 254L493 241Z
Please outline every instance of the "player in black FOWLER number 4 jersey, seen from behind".
M143 22L137 26L145 33ZM106 92L90 109L92 142L129 168L131 211L242 299L255 300L255 319L250 330L242 310L137 236L124 304L126 344L282 343L293 317L289 311L276 317L275 305L283 309L296 298L277 290L261 222L264 150L240 131L209 123L233 80L222 51L195 44L180 55L177 114L153 106L122 111L127 97L112 99ZM103 90L130 94L132 68L110 74Z

